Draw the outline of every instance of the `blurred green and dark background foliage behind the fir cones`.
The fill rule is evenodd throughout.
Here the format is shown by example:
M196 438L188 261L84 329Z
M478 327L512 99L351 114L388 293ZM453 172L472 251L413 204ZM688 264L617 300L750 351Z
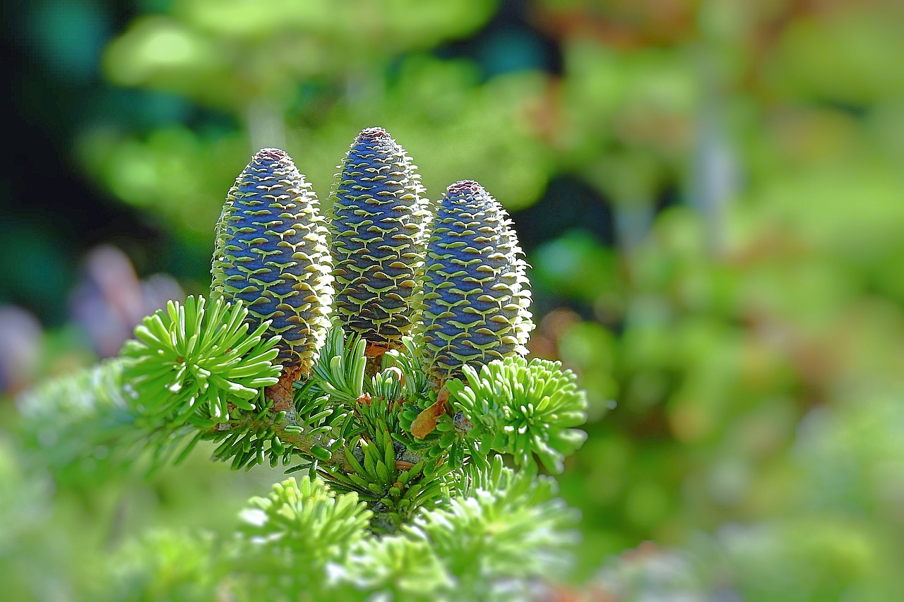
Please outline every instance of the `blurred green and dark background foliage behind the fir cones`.
M571 588L904 599L904 5L6 8L8 428L15 392L207 289L213 223L254 150L285 148L326 200L355 134L382 126L431 199L472 178L512 213L532 353L589 390L560 479L583 513ZM231 524L278 478L199 457L67 479L8 433L0 512L21 520L0 526L0 580L25 598L79 597L110 550Z

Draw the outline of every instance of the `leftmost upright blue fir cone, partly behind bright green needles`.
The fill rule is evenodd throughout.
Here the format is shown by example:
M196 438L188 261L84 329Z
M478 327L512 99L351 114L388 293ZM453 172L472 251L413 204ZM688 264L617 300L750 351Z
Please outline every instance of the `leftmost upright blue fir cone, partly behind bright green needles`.
M278 148L258 151L217 222L211 289L243 301L252 328L271 321L284 372L309 372L330 326L327 236L317 196L292 159Z

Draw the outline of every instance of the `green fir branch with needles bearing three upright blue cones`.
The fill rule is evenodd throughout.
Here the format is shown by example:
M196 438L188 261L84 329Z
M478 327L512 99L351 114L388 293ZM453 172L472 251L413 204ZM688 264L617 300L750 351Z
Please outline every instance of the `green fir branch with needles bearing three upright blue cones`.
M534 456L562 470L587 400L558 362L523 357L531 293L511 221L463 181L428 222L409 157L379 128L339 178L333 270L311 186L283 151L254 155L217 224L212 300L168 303L116 361L24 397L24 432L60 473L104 449L116 466L145 449L152 467L178 463L201 441L234 469L306 469L253 498L231 540L148 541L204 558L138 563L144 583L527 596L563 567L575 520Z

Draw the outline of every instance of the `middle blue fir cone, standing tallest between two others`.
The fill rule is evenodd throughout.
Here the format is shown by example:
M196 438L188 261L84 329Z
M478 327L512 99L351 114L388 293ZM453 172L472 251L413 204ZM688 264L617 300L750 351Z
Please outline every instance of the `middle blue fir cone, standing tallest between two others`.
M428 202L405 149L381 127L345 155L333 204L336 311L346 331L398 349L415 318Z

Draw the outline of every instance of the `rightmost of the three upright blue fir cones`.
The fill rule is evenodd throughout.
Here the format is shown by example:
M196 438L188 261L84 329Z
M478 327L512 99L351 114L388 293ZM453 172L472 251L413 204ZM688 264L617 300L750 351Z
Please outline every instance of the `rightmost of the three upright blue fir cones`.
M429 240L421 342L435 381L527 353L530 283L502 205L476 182L448 187Z

